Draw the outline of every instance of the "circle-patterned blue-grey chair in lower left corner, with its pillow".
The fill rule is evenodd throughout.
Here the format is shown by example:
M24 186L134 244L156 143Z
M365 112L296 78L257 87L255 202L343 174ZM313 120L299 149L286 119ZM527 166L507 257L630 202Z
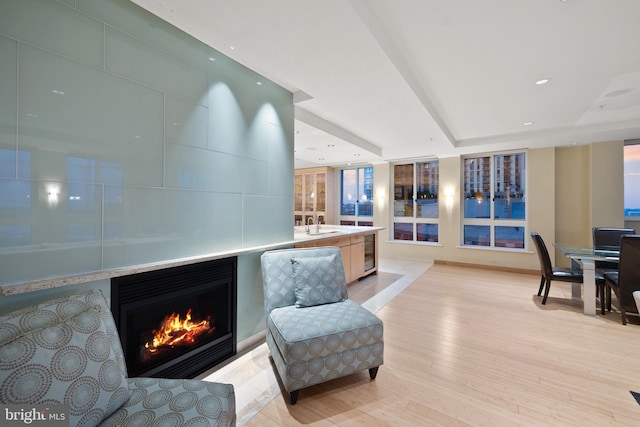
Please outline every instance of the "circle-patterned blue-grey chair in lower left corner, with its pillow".
M232 384L129 378L95 289L0 314L0 403L64 405L67 425L80 427L236 425Z

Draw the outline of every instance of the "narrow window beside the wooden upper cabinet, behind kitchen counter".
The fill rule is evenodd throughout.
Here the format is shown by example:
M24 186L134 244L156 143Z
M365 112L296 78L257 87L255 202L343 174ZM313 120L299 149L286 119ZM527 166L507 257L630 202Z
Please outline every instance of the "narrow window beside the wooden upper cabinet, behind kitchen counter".
M340 224L373 225L373 167L340 173Z

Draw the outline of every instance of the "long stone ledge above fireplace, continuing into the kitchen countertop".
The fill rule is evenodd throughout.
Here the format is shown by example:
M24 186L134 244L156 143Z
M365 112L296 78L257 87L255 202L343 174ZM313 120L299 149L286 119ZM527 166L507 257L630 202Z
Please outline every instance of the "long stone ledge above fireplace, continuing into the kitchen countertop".
M312 226L312 230L315 230ZM293 240L273 243L269 245L253 246L249 248L234 249L230 251L215 252L205 255L197 255L185 258L176 258L166 261L158 261L145 264L137 264L125 267L112 268L107 270L90 271L68 276L50 277L26 282L7 283L0 285L2 295L17 295L27 292L41 291L44 289L59 288L62 286L77 285L80 283L94 282L98 280L111 279L113 277L128 276L136 273L146 273L148 271L160 270L163 268L180 267L183 265L196 264L199 262L211 261L215 259L228 258L232 256L245 255L254 252L264 252L274 249L284 249L293 247L296 243L309 242L312 240L331 239L339 236L357 235L370 233L371 231L383 230L384 227L361 227L348 225L323 225L323 231L335 230L327 234L306 234L300 227L294 229Z

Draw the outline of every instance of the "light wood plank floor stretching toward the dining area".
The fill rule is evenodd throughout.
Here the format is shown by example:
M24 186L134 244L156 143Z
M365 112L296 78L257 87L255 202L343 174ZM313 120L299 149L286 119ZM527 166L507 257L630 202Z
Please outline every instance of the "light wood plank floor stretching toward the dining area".
M434 265L377 314L385 363L277 396L247 426L639 426L640 325L584 316L569 284Z

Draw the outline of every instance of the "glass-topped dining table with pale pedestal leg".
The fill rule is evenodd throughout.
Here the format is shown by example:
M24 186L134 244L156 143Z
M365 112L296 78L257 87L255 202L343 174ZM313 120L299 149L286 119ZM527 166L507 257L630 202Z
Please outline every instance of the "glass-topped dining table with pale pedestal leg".
M553 246L562 255L576 261L582 268L582 286L580 283L571 284L571 297L582 298L584 314L596 315L596 261L619 261L619 250L594 249L590 246L554 243ZM581 288L584 287L584 290ZM582 294L582 295L581 295ZM602 298L602 295L600 296Z

